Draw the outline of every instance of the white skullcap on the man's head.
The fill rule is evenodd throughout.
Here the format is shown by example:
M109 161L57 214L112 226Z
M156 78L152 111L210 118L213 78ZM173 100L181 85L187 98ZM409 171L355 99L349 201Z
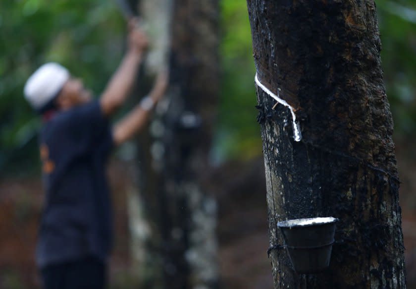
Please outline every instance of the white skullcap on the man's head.
M58 63L42 65L26 81L26 100L35 110L41 111L57 96L69 76L68 69Z

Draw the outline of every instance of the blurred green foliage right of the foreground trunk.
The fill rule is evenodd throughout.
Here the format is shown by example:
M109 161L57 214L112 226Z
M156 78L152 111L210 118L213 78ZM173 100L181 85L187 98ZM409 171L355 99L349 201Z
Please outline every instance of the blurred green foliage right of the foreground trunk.
M377 0L384 81L396 134L416 129L416 2Z

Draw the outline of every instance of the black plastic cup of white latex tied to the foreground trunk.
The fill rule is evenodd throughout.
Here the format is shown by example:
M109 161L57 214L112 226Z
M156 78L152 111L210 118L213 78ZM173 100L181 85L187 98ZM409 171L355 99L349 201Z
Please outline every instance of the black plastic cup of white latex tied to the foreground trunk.
M313 274L328 268L337 221L336 218L327 217L277 223L297 273Z

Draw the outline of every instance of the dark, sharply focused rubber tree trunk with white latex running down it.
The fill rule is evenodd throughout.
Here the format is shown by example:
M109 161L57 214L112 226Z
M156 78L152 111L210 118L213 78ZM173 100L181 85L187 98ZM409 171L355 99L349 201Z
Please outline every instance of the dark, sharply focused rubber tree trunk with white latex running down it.
M372 0L247 0L274 288L405 288L393 121ZM297 275L277 222L336 217L322 274Z

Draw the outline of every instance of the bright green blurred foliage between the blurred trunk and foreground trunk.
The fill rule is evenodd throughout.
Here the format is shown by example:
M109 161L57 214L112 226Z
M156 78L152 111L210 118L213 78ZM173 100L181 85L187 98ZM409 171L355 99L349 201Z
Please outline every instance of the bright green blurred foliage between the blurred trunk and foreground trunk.
M249 16L245 1L220 3L222 83L215 153L219 159L249 159L261 153Z

